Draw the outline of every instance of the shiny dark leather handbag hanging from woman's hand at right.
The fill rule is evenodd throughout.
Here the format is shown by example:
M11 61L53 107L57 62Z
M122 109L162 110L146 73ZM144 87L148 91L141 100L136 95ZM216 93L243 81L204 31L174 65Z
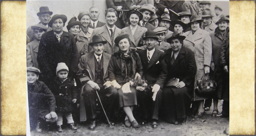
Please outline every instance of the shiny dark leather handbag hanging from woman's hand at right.
M212 80L210 74L208 74L208 79L203 79L204 75L201 80L197 81L195 86L195 93L201 97L212 97L213 95L215 95L217 83Z

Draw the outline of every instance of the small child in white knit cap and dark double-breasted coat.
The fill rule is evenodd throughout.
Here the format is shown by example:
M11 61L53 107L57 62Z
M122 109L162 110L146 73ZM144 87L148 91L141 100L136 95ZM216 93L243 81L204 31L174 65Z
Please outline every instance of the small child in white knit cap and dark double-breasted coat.
M73 103L76 103L77 94L74 81L68 77L69 69L65 63L58 63L56 68L57 77L54 79L52 91L56 99L56 113L58 115L57 131L62 132L62 116L67 119L71 130L77 130L71 112Z

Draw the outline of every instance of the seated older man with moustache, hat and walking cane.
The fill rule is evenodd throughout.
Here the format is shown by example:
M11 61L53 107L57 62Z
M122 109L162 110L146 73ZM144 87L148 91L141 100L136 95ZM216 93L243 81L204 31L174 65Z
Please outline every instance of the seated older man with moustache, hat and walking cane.
M106 27L106 26L104 26ZM90 118L89 129L94 130L96 127L96 99L98 90L99 97L103 104L103 107L106 111L106 115L113 119L114 108L118 103L118 92L111 86L111 82L108 77L109 61L110 54L104 53L105 44L107 41L104 41L100 35L94 35L92 42L89 43L89 46L93 48L93 52L85 54L81 57L79 67L79 74L83 74L86 71L88 74L83 74L80 77L81 83L84 85L81 92L81 105L85 105L87 114ZM85 104L82 104L82 101ZM115 105L116 104L116 105ZM84 116L85 113L82 113L80 107L80 116ZM85 121L81 120L80 121ZM111 122L113 125L114 123Z

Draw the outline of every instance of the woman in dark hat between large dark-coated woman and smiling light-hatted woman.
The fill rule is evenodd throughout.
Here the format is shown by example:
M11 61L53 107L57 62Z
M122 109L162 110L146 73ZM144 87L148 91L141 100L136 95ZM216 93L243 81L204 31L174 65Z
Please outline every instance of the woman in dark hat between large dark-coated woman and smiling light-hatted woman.
M75 38L79 59L82 55L87 54L89 52L88 38L78 35L80 28L81 28L81 23L79 21L76 21L76 17L73 17L69 20L67 29L71 34L73 34Z

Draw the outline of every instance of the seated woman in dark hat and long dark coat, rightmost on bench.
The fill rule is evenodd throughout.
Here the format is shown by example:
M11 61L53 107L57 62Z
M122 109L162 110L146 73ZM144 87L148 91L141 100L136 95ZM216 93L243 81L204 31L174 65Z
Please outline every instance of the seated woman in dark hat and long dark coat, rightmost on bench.
M194 52L183 46L185 36L175 34L167 39L171 48L163 61L163 77L166 83L163 85L163 106L166 121L172 124L181 124L186 118L191 105L191 92L194 87L194 79L197 72ZM167 71L167 74L164 74ZM173 82L173 78L177 78Z

